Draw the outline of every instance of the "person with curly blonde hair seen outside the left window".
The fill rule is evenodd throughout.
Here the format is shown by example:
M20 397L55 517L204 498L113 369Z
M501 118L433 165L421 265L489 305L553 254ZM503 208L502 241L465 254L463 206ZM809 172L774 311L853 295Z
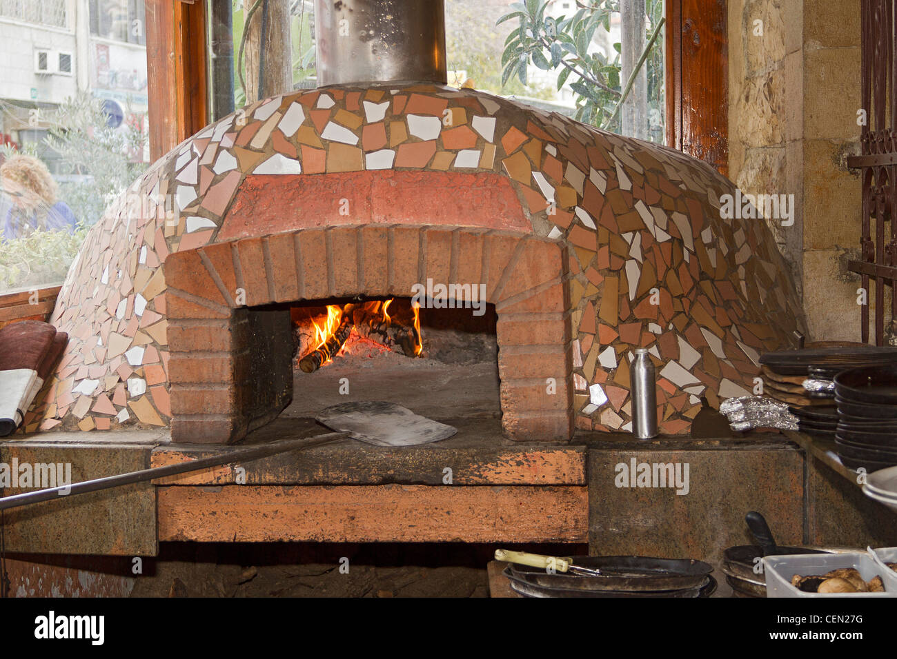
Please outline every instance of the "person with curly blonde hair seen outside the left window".
M0 192L12 202L3 225L7 240L37 230L74 232L74 212L57 201L56 181L37 158L16 154L0 165Z

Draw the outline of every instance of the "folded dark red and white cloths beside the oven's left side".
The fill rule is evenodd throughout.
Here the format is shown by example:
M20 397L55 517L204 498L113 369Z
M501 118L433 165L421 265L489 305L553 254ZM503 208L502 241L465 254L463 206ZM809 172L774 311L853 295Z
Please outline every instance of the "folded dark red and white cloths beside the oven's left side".
M68 343L39 320L0 328L0 437L13 433Z

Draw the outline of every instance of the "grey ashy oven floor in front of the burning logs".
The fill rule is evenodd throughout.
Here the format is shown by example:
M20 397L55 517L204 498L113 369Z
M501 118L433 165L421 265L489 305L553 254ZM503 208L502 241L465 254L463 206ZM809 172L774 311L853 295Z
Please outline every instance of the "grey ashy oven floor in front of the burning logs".
M347 382L340 380L346 378ZM340 387L348 385L349 393ZM396 355L343 360L314 373L293 374L292 403L281 417L314 417L337 403L387 401L430 417L499 418L498 366L494 362L443 364Z

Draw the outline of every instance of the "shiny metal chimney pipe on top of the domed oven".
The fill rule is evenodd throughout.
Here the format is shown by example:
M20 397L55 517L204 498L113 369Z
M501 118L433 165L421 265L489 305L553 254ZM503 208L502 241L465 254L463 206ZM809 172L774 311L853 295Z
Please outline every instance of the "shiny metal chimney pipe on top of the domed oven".
M443 0L315 0L318 86L446 84Z

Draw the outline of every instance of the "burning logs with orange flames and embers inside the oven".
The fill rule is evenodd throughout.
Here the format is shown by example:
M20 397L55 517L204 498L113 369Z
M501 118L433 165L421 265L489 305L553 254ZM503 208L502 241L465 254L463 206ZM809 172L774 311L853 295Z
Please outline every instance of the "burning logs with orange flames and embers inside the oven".
M358 343L409 357L423 354L420 306L393 298L294 308L297 366L312 373Z

